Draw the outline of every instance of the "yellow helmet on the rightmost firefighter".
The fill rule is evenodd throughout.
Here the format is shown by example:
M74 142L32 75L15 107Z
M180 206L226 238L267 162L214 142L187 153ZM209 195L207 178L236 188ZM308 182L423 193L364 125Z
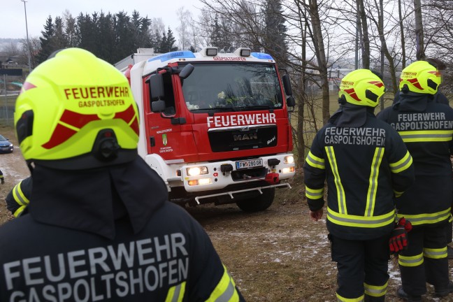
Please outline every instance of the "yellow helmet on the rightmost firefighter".
M436 94L441 82L442 77L435 66L417 61L401 71L399 88L405 93Z

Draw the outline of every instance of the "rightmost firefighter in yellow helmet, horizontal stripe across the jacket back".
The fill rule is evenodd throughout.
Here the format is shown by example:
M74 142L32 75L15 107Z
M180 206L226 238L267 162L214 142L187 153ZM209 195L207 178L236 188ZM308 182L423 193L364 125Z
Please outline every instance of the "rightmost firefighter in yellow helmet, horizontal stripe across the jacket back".
M401 72L400 102L378 115L398 131L414 160L415 185L396 201L398 216L413 226L409 248L398 257L398 296L409 301L422 301L426 282L437 296L453 291L445 241L452 206L453 109L433 101L440 82L429 62L410 64Z

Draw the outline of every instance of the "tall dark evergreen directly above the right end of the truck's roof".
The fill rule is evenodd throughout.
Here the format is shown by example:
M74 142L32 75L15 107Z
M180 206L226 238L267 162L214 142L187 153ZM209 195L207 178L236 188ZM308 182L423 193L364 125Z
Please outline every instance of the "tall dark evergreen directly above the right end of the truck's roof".
M287 27L281 0L266 0L264 5L264 51L271 54L280 67L287 66Z

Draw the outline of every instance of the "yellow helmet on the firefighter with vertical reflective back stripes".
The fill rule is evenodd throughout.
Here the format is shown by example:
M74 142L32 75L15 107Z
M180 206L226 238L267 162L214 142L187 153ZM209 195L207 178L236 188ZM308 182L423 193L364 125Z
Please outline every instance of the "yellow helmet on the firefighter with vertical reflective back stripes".
M384 83L375 73L369 69L357 69L341 80L338 97L340 102L374 108L384 91Z

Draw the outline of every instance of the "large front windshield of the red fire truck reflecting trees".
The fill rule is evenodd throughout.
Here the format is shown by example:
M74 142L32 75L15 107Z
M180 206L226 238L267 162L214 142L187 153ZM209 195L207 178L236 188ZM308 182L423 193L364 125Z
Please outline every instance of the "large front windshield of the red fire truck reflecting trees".
M283 106L275 65L191 64L194 71L182 81L189 110L263 110Z

